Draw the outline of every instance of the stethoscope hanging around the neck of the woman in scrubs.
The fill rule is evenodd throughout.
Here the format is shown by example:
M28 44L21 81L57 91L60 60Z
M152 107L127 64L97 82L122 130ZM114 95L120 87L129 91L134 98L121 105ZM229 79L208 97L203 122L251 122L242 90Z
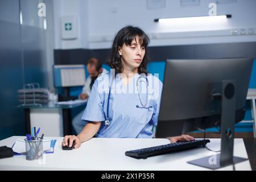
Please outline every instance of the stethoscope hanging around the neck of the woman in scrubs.
M114 77L115 76L116 75L114 75ZM141 82L143 78L146 80L146 83L147 83L146 103L145 104L142 103L141 94L139 93L139 82ZM108 95L108 102L107 102L107 115L106 115L106 120L105 120L105 126L109 126L110 125L110 121L109 121L109 100L110 100L110 92L111 92L111 89L112 89L113 81L114 81L114 79L112 79L111 84L110 84L110 88L109 88L109 95ZM136 105L137 108L141 108L141 109L150 109L150 108L152 108L152 106L146 107L147 106L147 102L148 102L148 85L149 85L149 82L148 82L147 76L144 73L142 73L137 78L137 82L136 82L136 86L137 86L137 90L138 90L138 95L139 95L139 101L141 102L142 107L140 107L139 105Z

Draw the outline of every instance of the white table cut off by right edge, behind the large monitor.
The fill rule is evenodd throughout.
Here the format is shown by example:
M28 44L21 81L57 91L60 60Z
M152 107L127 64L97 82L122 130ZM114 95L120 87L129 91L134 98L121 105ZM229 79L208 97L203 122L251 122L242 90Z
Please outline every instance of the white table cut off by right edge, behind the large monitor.
M253 118L253 133L256 138L256 89L249 89L246 100L251 100L251 117Z

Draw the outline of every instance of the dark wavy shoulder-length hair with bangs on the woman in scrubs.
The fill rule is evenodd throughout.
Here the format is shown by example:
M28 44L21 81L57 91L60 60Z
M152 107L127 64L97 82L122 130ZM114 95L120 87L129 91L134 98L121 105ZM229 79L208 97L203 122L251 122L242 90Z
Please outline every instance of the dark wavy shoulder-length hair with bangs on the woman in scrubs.
M148 63L148 50L147 46L150 43L150 39L145 34L141 28L133 27L133 26L127 26L122 28L117 35L114 38L112 50L110 52L108 62L107 64L110 66L110 68L115 69L115 73L122 73L123 65L121 61L121 56L118 52L118 47L122 47L124 44L126 46L131 45L131 42L139 36L139 43L141 46L145 47L145 55L142 60L141 65L139 65L138 73L147 74L147 63Z

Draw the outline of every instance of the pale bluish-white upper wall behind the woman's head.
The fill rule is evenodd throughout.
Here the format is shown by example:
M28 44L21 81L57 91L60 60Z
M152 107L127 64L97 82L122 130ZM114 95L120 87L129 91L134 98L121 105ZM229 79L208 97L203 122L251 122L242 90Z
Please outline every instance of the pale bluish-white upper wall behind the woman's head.
M141 27L151 38L150 46L256 41L255 33L247 34L249 28L254 28L256 32L255 0L237 0L237 3L217 5L217 14L232 14L232 19L181 26L155 23L154 19L206 16L209 3L216 1L202 0L200 6L181 7L180 0L166 0L166 7L158 10L148 10L147 0L57 1L61 1L60 16L79 16L81 28L77 40L55 38L56 48L110 48L114 35L128 24ZM246 28L246 35L240 35L241 28ZM237 35L232 34L234 30L238 31Z

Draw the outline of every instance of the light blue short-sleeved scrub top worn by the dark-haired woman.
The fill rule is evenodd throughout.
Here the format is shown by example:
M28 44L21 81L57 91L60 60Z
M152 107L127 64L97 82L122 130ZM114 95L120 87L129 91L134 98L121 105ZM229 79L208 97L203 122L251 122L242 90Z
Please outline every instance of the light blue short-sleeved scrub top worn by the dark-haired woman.
M97 78L92 86L82 120L102 122L97 137L100 138L152 138L153 126L158 123L159 107L163 84L158 77L148 74L148 101L146 107L146 78L133 76L124 85L121 75L114 79L109 100L110 125L105 126L109 88L112 78L110 72ZM137 80L138 89L137 89ZM141 97L141 100L139 99ZM142 101L142 104L141 104ZM137 105L139 107L137 107Z

